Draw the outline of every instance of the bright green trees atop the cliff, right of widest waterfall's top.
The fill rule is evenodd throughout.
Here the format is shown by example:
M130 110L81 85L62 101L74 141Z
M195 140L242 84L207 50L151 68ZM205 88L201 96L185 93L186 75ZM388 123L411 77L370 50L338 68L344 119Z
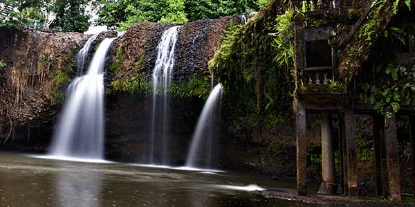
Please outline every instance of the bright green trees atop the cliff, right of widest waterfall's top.
M126 30L140 21L183 24L198 19L213 19L257 11L270 0L95 0L98 10L95 24Z

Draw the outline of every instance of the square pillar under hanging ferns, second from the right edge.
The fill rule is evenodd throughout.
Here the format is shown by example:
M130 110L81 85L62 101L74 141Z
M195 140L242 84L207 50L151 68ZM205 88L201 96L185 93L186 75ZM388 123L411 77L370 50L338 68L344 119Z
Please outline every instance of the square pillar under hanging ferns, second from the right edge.
M398 136L396 134L395 113L391 113L390 117L385 113L385 145L390 198L392 201L402 201L400 196Z

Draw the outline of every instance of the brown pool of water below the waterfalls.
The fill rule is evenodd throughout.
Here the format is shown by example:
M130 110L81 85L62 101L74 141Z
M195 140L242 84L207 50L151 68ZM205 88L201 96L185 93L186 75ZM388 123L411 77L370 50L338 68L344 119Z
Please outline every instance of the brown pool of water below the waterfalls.
M261 174L0 154L0 206L310 206L252 190L295 188Z

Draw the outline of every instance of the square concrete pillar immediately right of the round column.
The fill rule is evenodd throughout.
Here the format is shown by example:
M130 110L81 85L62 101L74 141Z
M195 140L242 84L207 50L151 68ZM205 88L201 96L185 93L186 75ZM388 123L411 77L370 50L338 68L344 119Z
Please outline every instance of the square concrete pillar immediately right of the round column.
M356 155L356 131L353 109L344 111L344 135L347 153L347 186L349 197L358 197L358 163Z

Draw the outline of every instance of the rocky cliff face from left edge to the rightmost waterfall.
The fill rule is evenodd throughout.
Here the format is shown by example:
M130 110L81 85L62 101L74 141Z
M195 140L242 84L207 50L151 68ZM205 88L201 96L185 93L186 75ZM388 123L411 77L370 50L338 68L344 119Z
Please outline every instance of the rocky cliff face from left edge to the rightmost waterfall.
M208 61L221 45L223 30L240 16L205 19L181 27L174 82L189 88L193 75L199 78L199 91L207 96L210 91ZM139 148L129 143L140 143L149 117L147 111L148 80L157 57L160 37L173 25L138 23L111 46L105 78L107 89L107 156L131 160ZM93 43L93 53L102 38ZM0 141L3 148L44 151L48 147L53 126L59 118L68 83L75 76L75 55L88 35L80 33L46 33L36 30L0 31L0 60L7 66L0 69ZM91 55L92 56L92 55ZM140 80L136 84L136 80ZM176 94L177 95L177 94ZM172 136L178 137L175 151L186 152L196 120L203 107L203 98L189 93L174 96ZM199 95L199 94L196 94ZM121 125L120 125L121 124ZM7 142L6 142L7 140ZM186 143L181 145L179 143ZM126 150L127 146L127 150ZM139 154L137 154L139 155ZM184 160L184 153L180 159Z

